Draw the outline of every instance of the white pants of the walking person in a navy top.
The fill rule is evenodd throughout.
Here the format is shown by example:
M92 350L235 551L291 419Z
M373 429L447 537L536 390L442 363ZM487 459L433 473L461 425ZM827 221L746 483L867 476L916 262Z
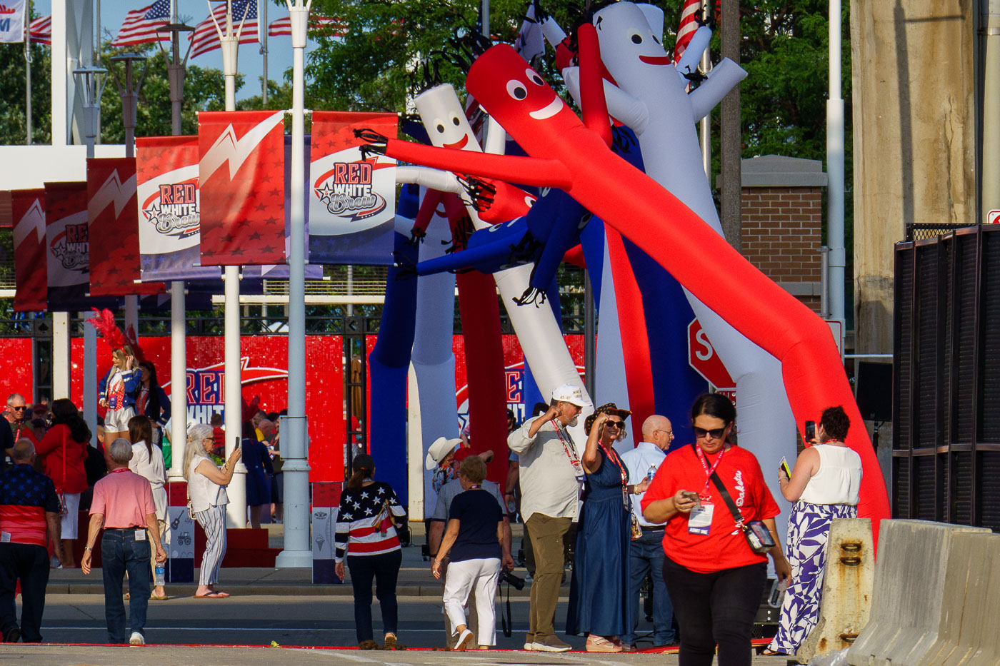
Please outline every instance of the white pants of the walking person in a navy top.
M500 575L500 560L495 557L479 560L462 560L448 563L448 577L444 584L444 610L455 627L465 624L465 601L473 587L476 590L476 613L479 626L476 637L480 645L496 645L496 608L494 598Z

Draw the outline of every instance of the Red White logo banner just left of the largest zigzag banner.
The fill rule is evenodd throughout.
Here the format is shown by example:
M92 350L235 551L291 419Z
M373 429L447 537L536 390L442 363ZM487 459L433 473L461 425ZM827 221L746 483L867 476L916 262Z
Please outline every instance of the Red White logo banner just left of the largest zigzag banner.
M221 279L199 258L198 137L138 137L135 154L143 282Z

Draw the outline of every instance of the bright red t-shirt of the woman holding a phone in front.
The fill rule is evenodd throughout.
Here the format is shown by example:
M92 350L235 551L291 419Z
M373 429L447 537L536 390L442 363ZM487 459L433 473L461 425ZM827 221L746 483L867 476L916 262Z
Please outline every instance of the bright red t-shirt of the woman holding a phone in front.
M781 513L771 491L764 482L757 458L746 449L731 446L724 454L705 455L709 468L722 455L715 471L722 480L744 521L764 520ZM685 446L673 451L664 459L642 498L642 508L650 502L673 497L678 490L690 490L714 506L709 533L691 534L687 514L678 513L667 521L663 537L663 551L667 557L683 567L698 573L712 573L749 564L766 562L766 555L758 555L747 544L742 532L736 531L733 514L729 511L719 489L709 481L694 448ZM702 502L705 502L702 499Z

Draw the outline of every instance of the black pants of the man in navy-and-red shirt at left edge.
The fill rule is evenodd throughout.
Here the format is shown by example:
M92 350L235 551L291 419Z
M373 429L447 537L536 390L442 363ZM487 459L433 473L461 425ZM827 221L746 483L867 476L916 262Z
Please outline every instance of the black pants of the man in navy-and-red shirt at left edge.
M21 640L42 642L45 586L49 584L49 554L42 546L0 543L0 632L17 626L14 591L21 581Z

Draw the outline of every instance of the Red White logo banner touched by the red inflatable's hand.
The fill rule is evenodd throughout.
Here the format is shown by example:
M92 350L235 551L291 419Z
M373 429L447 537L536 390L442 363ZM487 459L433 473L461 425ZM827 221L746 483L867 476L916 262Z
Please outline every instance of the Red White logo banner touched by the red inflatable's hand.
M362 159L355 129L395 138L396 114L313 112L309 165L309 261L391 265L396 161Z

